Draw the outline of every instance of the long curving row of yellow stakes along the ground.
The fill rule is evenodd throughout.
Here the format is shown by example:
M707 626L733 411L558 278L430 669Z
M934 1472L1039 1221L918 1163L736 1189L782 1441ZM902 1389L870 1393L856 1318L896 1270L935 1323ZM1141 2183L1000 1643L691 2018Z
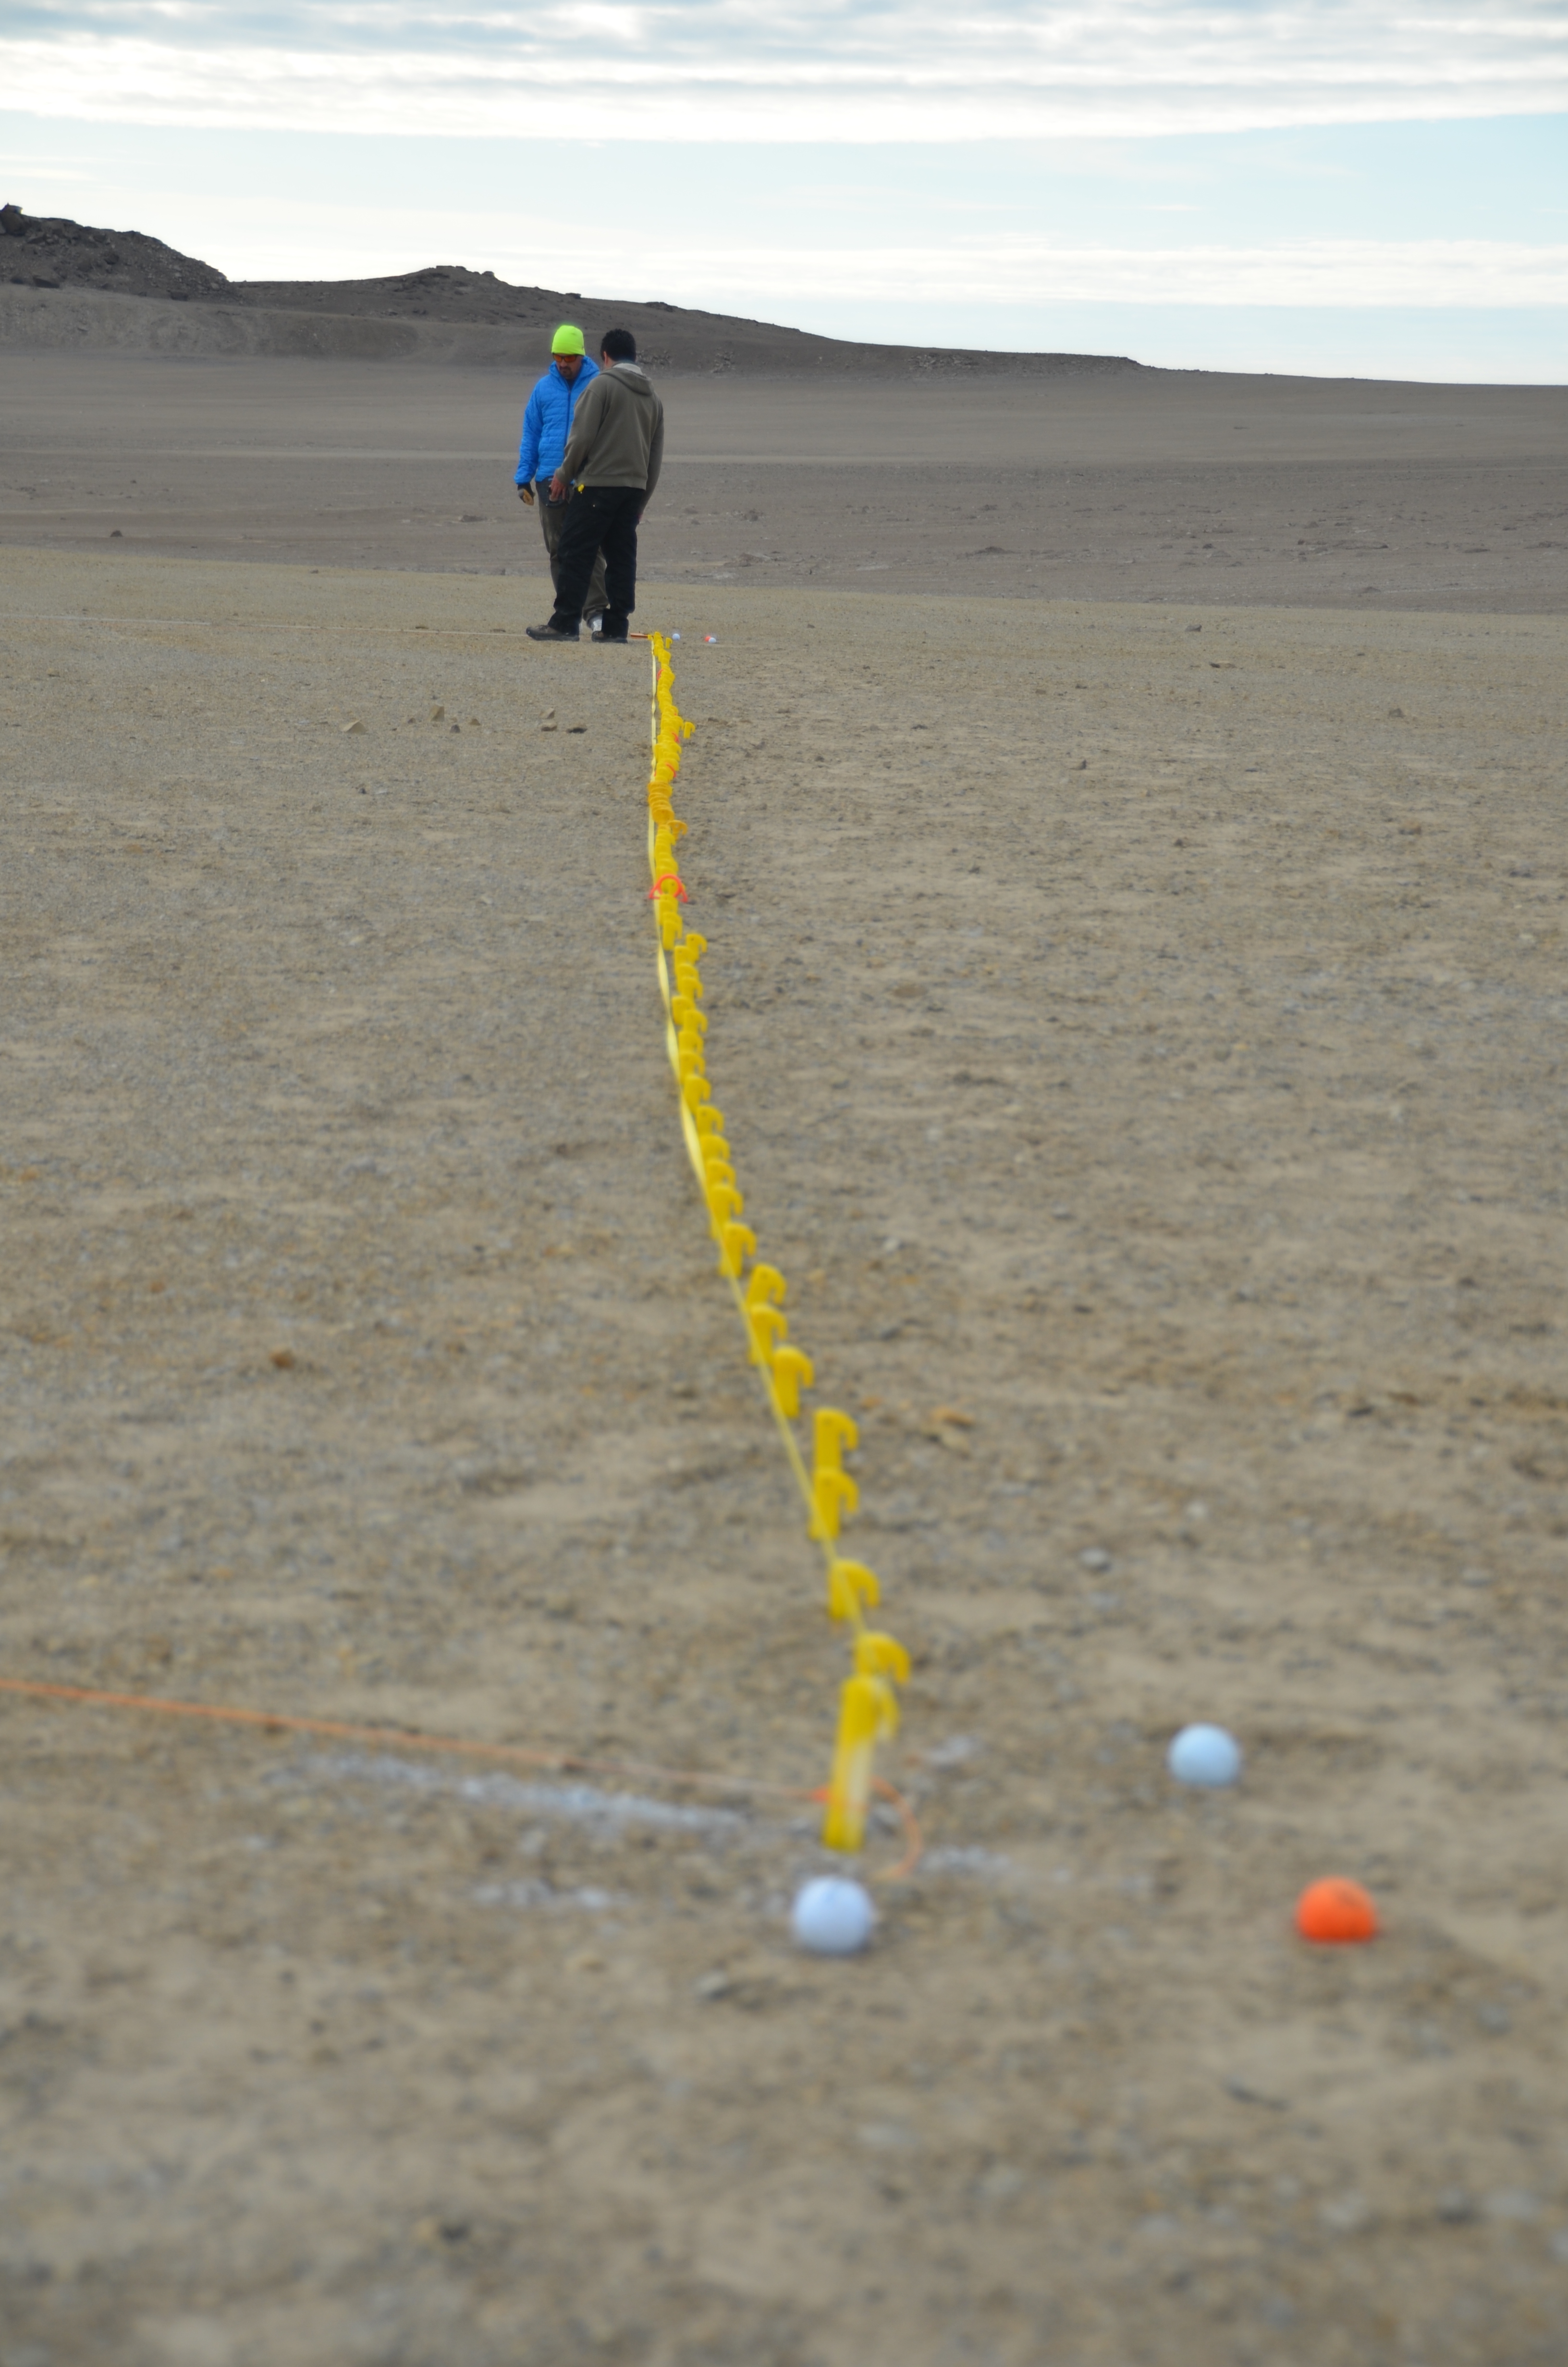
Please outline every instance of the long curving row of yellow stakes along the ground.
M756 1233L744 1224L746 1202L734 1181L734 1160L725 1141L725 1117L713 1105L706 1063L708 1020L701 1008L701 956L708 940L685 925L680 907L687 890L680 878L677 843L687 826L673 807L680 753L692 736L675 705L675 667L670 644L651 634L654 649L654 772L649 779L649 899L658 925L658 992L666 1008L666 1046L680 1084L680 1124L692 1172L708 1202L708 1221L718 1245L718 1271L725 1276L739 1318L746 1328L746 1352L758 1370L767 1406L779 1427L784 1453L805 1503L808 1536L822 1548L827 1569L827 1614L850 1631L853 1673L838 1697L838 1740L834 1773L827 1787L822 1839L829 1849L860 1849L872 1806L872 1763L879 1740L898 1733L895 1683L910 1676L910 1655L893 1636L867 1626L881 1588L865 1562L838 1553L838 1531L857 1510L860 1491L843 1468L843 1456L860 1444L848 1413L820 1406L812 1415L812 1465L805 1468L793 1420L801 1392L815 1382L810 1356L789 1337L784 1299L789 1285L777 1266L758 1262ZM746 1271L751 1269L751 1271Z

